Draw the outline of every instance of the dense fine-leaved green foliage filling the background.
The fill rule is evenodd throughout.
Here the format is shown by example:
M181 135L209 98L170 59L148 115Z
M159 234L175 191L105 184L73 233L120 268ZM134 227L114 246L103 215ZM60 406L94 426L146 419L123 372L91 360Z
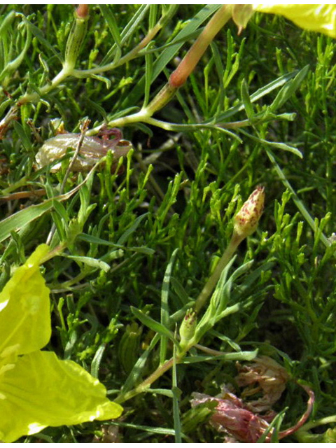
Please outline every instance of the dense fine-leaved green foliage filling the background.
M200 293L230 241L232 217L261 184L266 203L259 228L239 246L228 272L230 277L253 260L228 292L228 304L241 306L201 344L271 356L314 390L312 419L336 421L335 244L328 239L336 211L331 38L273 15L255 15L239 36L230 22L186 85L155 114L168 123L166 129L125 124L123 137L134 151L118 169L111 170L108 156L64 200L52 198L59 195L69 158L57 173L34 169L41 141L55 134L60 121L67 131L80 132L84 118L90 127L113 123L153 99L216 8L172 10L136 58L99 76L65 78L39 97L62 69L73 7L1 6L0 120L26 92L31 99L36 92L37 99L22 104L0 141L0 286L11 268L47 240L54 224L51 246L64 243L66 249L44 265L52 290L48 349L98 376L113 400L126 381L132 389L172 356L165 335L154 344L160 326L146 316L174 331L169 316L185 312ZM118 62L161 13L158 5L92 6L76 69ZM85 176L71 174L64 193ZM45 196L34 195L41 188ZM31 195L10 196L20 191ZM29 440L109 441L109 431L118 426L123 442L221 441L206 412L190 411L190 396L216 395L221 384L235 384L235 374L232 360L208 356L181 364L153 391L123 403L120 421L47 428ZM300 419L306 402L304 391L288 383L276 405L276 412L286 408L281 428Z

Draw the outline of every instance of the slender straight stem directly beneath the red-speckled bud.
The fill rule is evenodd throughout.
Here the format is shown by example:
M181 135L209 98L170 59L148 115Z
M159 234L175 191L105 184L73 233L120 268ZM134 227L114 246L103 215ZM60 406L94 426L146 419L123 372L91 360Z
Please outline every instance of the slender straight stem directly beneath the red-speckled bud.
M211 274L207 283L205 283L204 288L202 289L200 295L197 297L194 307L196 313L200 311L200 309L207 302L211 293L214 291L214 288L216 287L216 284L221 276L221 273L223 272L223 269L225 268L226 265L228 265L228 262L231 260L232 255L235 253L237 247L239 246L239 244L243 239L244 238L239 237L239 235L237 235L235 232L233 233L230 244L223 253L221 260L219 260L216 269L214 270L213 274Z

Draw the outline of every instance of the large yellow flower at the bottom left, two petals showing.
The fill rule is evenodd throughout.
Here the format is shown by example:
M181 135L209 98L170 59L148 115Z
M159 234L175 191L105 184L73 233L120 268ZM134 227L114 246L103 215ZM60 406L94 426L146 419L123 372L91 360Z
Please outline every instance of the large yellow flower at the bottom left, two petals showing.
M41 244L0 293L0 440L14 442L45 426L120 416L106 388L83 367L41 351L51 335L49 289L39 271Z

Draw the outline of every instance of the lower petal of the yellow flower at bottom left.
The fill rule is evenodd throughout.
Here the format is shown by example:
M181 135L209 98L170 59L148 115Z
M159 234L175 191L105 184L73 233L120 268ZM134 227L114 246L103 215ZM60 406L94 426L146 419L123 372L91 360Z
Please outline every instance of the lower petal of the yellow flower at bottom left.
M51 351L18 358L0 377L0 440L13 442L46 426L116 419L123 407L83 367Z

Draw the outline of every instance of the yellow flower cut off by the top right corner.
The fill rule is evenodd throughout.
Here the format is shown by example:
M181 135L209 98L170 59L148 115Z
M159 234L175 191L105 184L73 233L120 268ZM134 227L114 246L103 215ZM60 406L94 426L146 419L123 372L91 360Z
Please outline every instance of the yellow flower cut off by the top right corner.
M336 38L336 5L286 5L253 3L260 13L280 14L303 29L318 31Z

